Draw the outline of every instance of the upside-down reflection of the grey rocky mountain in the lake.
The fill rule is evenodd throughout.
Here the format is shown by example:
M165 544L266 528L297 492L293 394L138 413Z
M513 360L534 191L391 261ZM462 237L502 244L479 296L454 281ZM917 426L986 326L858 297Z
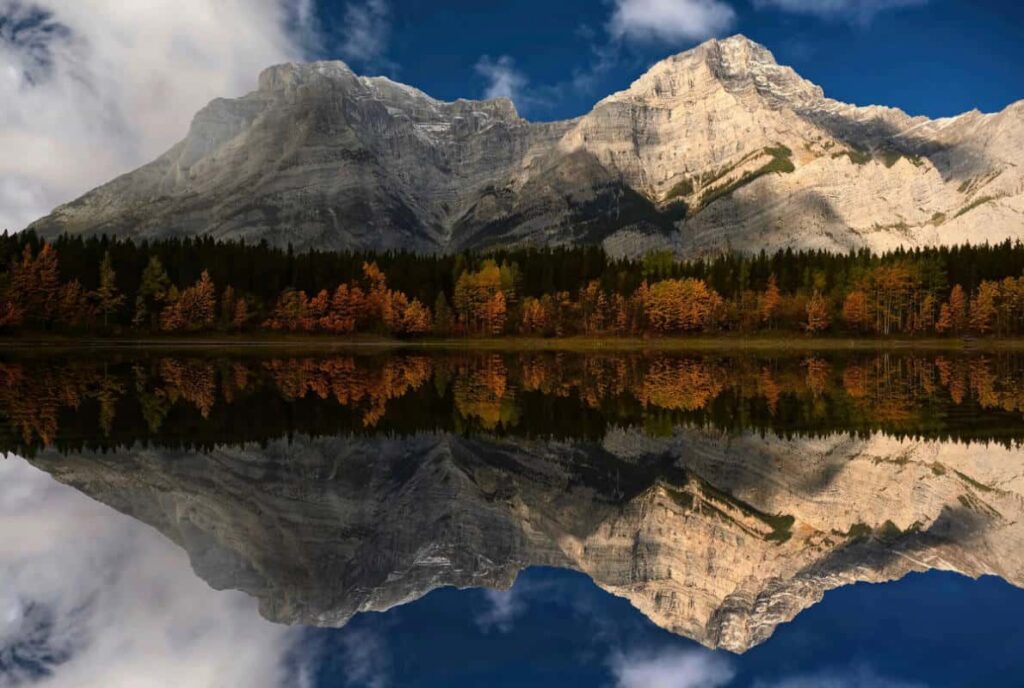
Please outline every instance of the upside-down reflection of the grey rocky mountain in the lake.
M34 460L150 523L211 586L339 626L441 586L572 568L741 652L837 587L909 571L1024 585L1024 455L858 439L307 438Z

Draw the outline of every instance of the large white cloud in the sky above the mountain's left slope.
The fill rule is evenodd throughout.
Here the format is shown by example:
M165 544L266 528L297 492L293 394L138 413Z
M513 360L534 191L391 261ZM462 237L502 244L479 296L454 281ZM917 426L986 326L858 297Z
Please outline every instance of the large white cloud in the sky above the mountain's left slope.
M156 158L317 36L312 0L0 0L0 228Z

